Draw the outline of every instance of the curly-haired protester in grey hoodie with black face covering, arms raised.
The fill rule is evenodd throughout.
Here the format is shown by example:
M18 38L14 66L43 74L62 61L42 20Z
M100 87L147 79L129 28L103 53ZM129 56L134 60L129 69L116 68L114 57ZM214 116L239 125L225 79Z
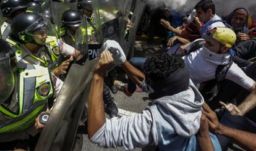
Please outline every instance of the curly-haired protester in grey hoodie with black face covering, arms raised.
M117 53L121 55L115 55ZM158 145L161 150L195 150L194 134L199 128L203 98L189 80L184 60L179 56L159 54L146 60L145 76L151 90L149 97L153 99L151 107L127 118L105 118L102 94L96 91L103 91L103 76L109 65L122 63L128 75L142 75L122 54L122 50L115 49L113 59L109 51L104 51L95 68L88 106L90 141L101 147L124 146L127 150L146 145ZM216 141L215 136L211 139ZM217 143L214 147L220 149Z

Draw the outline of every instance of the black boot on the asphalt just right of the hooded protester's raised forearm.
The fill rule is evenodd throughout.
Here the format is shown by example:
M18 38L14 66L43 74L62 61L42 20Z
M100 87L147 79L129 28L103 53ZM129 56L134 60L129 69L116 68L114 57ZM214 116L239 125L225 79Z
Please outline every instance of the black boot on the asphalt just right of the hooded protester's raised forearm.
M103 100L105 112L110 116L110 118L117 116L118 108L114 103L114 98L111 96L109 88L106 86L106 84L104 84Z

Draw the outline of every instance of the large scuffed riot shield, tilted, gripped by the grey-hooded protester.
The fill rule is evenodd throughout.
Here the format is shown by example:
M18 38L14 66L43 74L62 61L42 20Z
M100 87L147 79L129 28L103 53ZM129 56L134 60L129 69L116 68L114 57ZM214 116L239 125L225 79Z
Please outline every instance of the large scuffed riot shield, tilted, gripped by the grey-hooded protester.
M98 59L71 66L35 150L72 150L96 63Z

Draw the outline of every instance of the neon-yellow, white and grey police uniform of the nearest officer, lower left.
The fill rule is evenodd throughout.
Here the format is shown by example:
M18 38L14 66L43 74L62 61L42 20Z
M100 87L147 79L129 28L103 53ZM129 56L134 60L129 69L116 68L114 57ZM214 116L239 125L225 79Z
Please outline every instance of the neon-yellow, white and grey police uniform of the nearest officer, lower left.
M62 86L48 68L27 65L15 73L12 97L0 105L0 142L27 139L37 133L36 117L47 108L48 98L56 96ZM56 92L55 89L58 89Z

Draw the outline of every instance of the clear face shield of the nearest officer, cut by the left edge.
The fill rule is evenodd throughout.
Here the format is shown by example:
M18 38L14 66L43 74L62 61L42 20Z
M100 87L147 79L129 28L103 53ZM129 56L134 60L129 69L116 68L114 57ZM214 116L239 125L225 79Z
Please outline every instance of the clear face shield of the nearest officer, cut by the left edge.
M15 85L9 54L0 55L0 105L12 94Z

